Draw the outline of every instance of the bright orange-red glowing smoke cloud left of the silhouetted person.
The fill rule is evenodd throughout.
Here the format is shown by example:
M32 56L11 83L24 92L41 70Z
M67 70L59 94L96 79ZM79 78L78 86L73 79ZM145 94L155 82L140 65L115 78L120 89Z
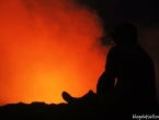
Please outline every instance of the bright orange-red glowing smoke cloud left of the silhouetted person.
M1 0L0 16L0 104L95 92L105 64L95 13L72 0Z

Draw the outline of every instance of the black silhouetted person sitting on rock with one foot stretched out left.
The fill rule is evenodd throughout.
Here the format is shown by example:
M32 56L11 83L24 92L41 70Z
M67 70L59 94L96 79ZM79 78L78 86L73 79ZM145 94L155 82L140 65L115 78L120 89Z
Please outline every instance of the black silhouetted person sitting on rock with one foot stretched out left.
M157 106L155 68L151 58L137 43L137 28L121 23L110 36L115 46L107 53L96 94L90 91L81 98L73 98L64 92L64 99L70 104L82 99L105 103L105 108L114 109L116 113L122 110L134 113L151 111ZM114 85L115 79L117 83Z

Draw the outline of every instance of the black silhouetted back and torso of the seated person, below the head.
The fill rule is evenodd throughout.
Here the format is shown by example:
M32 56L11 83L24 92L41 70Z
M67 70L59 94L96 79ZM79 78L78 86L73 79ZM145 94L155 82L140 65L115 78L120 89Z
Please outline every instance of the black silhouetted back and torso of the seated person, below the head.
M132 105L145 109L157 103L154 62L138 45L116 46L116 79L114 91L127 94ZM112 49L112 50L113 50Z

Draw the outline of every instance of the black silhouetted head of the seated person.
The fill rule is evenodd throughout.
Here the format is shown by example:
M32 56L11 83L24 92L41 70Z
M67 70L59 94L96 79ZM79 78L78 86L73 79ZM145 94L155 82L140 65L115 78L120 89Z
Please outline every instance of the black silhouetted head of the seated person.
M137 43L137 28L130 23L118 24L111 33L116 45Z

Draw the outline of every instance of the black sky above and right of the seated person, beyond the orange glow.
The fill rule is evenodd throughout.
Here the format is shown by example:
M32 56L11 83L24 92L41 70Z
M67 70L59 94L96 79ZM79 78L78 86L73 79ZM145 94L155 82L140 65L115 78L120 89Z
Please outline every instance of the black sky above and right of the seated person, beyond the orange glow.
M105 32L121 22L130 22L138 28L138 43L155 63L159 99L159 0L78 0L91 11L96 11ZM106 40L102 41L104 45Z

